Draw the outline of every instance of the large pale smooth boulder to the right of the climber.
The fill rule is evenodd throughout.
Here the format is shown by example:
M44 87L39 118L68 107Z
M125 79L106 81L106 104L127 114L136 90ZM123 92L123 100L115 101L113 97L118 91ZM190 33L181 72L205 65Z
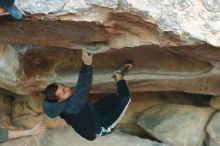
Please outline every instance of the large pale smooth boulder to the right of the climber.
M174 146L201 146L211 108L164 104L145 110L137 124L157 139Z

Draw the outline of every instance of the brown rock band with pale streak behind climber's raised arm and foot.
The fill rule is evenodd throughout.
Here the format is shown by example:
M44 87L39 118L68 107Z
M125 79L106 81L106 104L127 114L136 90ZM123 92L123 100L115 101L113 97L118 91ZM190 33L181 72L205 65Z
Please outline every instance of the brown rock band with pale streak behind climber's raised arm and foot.
M10 66L7 74L5 68L0 70L2 88L29 94L42 91L52 82L75 86L81 50L30 45L2 46L6 52L12 52L8 54L12 56L9 59L16 62L9 64L7 55L2 56L2 60L5 58L3 65ZM219 95L219 54L219 49L208 45L180 48L140 46L95 54L91 93L115 92L113 70L131 58L135 66L126 76L131 92L184 91Z

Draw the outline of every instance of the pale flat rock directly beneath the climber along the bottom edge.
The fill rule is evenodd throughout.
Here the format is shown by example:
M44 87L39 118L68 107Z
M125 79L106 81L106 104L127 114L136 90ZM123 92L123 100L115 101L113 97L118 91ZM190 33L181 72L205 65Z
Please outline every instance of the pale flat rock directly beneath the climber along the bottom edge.
M3 143L1 146L8 145L31 145L31 146L169 146L167 144L141 139L122 133L113 133L109 136L99 137L95 141L88 141L77 135L72 128L58 128L49 130L41 136L33 138L23 138L11 142Z

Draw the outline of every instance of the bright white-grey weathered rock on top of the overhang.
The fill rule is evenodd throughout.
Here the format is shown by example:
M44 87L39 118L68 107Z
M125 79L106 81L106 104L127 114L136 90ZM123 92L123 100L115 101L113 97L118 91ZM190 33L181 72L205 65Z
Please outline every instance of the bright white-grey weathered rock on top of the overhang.
M147 22L157 24L162 40L163 37L169 36L166 32L174 32L181 42L192 43L199 40L220 46L220 2L218 0L141 0L138 2L136 0L83 0L80 2L18 0L17 5L31 14L59 15L71 12L73 17L70 18L73 20L98 21L103 24L108 22L108 12L129 12L143 17L142 19ZM102 8L102 11L99 11L99 8ZM157 44L166 43L158 41Z

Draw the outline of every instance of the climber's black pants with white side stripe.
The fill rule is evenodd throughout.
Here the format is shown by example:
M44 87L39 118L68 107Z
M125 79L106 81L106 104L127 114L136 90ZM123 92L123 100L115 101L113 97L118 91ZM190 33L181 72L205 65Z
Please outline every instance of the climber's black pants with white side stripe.
M99 136L110 134L124 115L129 103L130 95L125 80L117 82L117 94L102 97L95 103L99 113L101 133Z

